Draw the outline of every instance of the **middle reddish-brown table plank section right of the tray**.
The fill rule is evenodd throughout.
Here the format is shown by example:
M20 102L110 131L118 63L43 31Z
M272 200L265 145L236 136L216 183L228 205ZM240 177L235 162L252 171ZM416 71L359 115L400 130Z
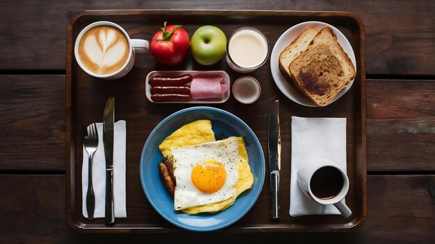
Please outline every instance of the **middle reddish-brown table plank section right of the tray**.
M435 171L435 80L368 80L368 171Z

